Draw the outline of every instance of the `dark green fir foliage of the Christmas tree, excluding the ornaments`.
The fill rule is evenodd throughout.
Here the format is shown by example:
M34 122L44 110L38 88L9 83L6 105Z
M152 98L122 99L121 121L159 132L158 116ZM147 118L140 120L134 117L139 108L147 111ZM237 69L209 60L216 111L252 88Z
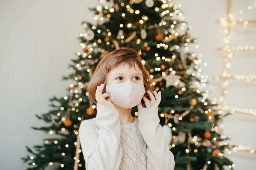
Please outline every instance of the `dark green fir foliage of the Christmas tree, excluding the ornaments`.
M52 99L49 99L50 106L53 109L48 113L35 115L39 120L46 122L46 125L44 127L32 128L34 130L44 131L45 133L51 131L53 137L43 139L43 144L35 145L33 149L26 146L28 154L22 158L22 160L30 165L27 170L44 170L51 162L64 164L64 167L58 166L57 169L73 169L75 162L74 157L76 156L76 145L74 143L77 140L77 131L79 130L81 120L92 119L96 116L96 113L92 116L86 114L86 109L90 108L90 102L87 96L88 92L86 91L86 83L90 80L87 69L90 68L90 70L93 71L98 65L102 53L115 49L113 40L116 40L119 46L134 48L136 51L140 52L140 56L147 62L150 73L154 76L154 79L162 77L163 72L175 71L176 75L181 76L180 82L184 83L183 86L166 87L165 79L156 82L155 85L157 91L162 91L162 101L159 105L160 124L171 126L173 136L175 136L170 144L172 147L170 150L175 156L175 170L186 170L188 162L191 164L191 170L202 169L208 160L211 161L211 164L207 165L207 170L214 170L216 164L220 169L223 169L224 165L233 164L224 156L212 156L213 150L219 149L221 153L223 153L224 149L227 147L219 144L219 142L225 139L222 139L221 135L215 130L215 127L218 127L218 120L221 118L221 115L217 113L217 109L215 109L216 105L211 104L210 100L204 97L207 96L205 91L201 91L201 89L200 92L195 91L195 82L200 83L201 79L191 73L198 72L195 67L197 64L193 62L194 60L197 61L198 57L192 52L186 51L185 60L182 58L181 53L184 53L184 51L181 49L183 49L184 43L192 44L195 42L195 38L190 37L189 28L184 29L183 32L179 30L181 24L187 25L185 21L180 20L180 17L176 15L177 13L181 13L181 11L176 9L177 6L174 6L174 4L167 8L162 8L163 2L158 0L154 0L154 6L151 8L145 5L145 0L138 4L130 4L130 0L114 0L114 2L119 6L119 10L115 9L114 12L110 12L108 9L105 9L104 6L102 7L102 13L97 11L96 8L89 8L89 10L94 11L95 15L103 15L104 21L102 24L97 25L86 21L82 22L82 25L85 27L85 33L88 30L93 31L94 37L92 40L87 40L84 36L78 37L79 42L87 46L88 52L81 52L80 54L75 53L76 58L71 59L69 65L69 68L73 69L73 72L62 77L62 80L75 80L73 88L79 89L80 91L76 94L73 93L73 89L71 89L72 93L70 96L70 89L67 88L68 92L64 95L68 96L67 99L64 99L64 96L61 98L54 96ZM124 3L125 6L121 6L121 3ZM139 10L140 13L131 13L127 10L127 5L134 11ZM158 11L155 10L156 7L159 9ZM162 13L167 9L169 10L168 13L163 16ZM122 16L123 13L125 17ZM170 13L176 16L170 17ZM143 20L144 16L147 16L148 19ZM140 20L143 21L143 24L139 23ZM165 24L163 24L163 21ZM128 23L132 23L134 27L128 28ZM161 26L159 25L160 23L162 24ZM123 25L123 27L120 27L120 25ZM92 29L93 26L95 26L95 29ZM144 40L140 35L142 28L147 32L147 36ZM98 33L97 30L101 30L101 33ZM117 38L120 30L123 31L124 39ZM131 36L134 31L136 31L135 37L132 38L131 41L125 42L124 40ZM109 32L111 32L111 35L108 35ZM158 33L163 34L163 39L165 39L165 37L174 37L175 32L178 32L179 35L169 42L163 42L155 38ZM111 41L109 44L105 42L105 37L110 38ZM140 40L138 41L138 39ZM93 43L96 43L95 47ZM168 45L167 48L166 45ZM93 51L89 51L90 47L88 46L93 47ZM151 49L148 51L146 47L150 47ZM157 56L161 59L157 60ZM163 57L167 60L163 59ZM185 61L186 67L184 67ZM78 67L77 64L81 67ZM166 69L156 69L160 68L161 65ZM190 73L187 73L188 70L190 70ZM74 79L75 77L76 79ZM81 77L81 79L77 79L77 77ZM81 84L83 87L81 87ZM82 99L81 101L79 100L80 98ZM190 104L191 99L196 99L197 101L196 105L193 107ZM207 105L205 105L205 102L207 102ZM76 106L76 103L79 103L79 105ZM215 120L209 119L207 113L210 110L215 113L212 118ZM137 109L134 108L132 115L135 115L136 111ZM178 122L175 122L174 118L171 118L166 123L165 118L161 116L161 113L167 115L171 114L171 116L177 114L181 115L185 111L189 111L189 114ZM224 116L227 116L227 114ZM64 125L62 122L63 117L66 117L66 119L69 117L72 121L70 127ZM191 118L195 119L195 121L191 122ZM206 131L209 131L211 134L209 139L206 139L204 136ZM174 141L174 139L179 138L180 133L185 134L185 141ZM198 144L189 141L190 136L196 136L197 139L200 139L196 141ZM205 141L209 141L210 146L205 146ZM189 149L189 153L186 152L186 149ZM33 159L31 159L31 156L33 156ZM85 162L82 152L80 153L79 160L79 170L84 170ZM32 165L32 163L35 163L35 165Z

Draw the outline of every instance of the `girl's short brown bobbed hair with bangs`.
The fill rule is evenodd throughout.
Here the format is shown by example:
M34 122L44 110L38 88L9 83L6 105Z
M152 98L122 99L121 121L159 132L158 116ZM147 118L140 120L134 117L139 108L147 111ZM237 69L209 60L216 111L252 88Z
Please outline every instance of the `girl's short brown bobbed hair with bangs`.
M95 93L96 88L98 85L104 84L104 89L102 91L102 94L106 93L105 87L106 87L106 80L108 72L111 71L113 68L119 67L122 64L128 64L129 68L134 67L135 64L140 68L140 70L143 73L143 82L145 87L145 97L147 99L150 99L147 93L147 90L149 90L151 93L154 91L154 86L152 85L152 80L149 77L150 74L148 70L145 68L145 66L142 64L143 59L140 57L140 55L135 51L133 48L126 48L126 47L120 47L119 49L115 49L114 51L109 52L106 54L102 60L99 62L97 67L95 68L95 71L93 72L93 75L90 79L89 85L88 85L88 92L89 92L89 99L97 103L97 100L95 99Z

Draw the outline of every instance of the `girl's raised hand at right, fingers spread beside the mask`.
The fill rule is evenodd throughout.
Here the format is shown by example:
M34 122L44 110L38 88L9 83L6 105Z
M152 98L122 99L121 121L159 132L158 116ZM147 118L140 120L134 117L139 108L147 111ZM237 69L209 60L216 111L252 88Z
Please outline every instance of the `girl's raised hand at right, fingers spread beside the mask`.
M161 91L159 91L158 94L157 94L157 91L153 91L155 97L154 97L154 95L153 95L149 90L147 91L147 93L148 93L148 95L150 96L150 99L151 99L151 100L148 101L148 99L147 99L145 96L143 96L143 98L142 98L143 101L145 102L146 108L149 108L149 107L151 107L152 105L155 105L155 106L158 107L158 105L159 105L160 102L161 102ZM140 110L141 108L143 108L142 105L141 105L141 102L140 102L139 105L137 105L137 107L138 107L138 110Z

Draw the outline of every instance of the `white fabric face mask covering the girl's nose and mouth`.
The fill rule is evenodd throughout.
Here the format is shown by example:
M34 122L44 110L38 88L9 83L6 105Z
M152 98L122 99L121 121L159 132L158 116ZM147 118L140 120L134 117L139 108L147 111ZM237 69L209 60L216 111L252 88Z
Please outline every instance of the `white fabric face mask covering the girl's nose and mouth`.
M145 87L135 82L122 82L106 85L106 92L110 94L114 104L122 108L132 108L140 103L145 94Z

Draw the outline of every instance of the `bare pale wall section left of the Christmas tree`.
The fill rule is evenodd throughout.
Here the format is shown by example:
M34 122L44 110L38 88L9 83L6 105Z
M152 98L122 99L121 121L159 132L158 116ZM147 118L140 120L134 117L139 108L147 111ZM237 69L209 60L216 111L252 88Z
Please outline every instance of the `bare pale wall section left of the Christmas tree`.
M0 1L0 169L28 167L21 157L25 145L42 144L45 134L32 130L43 121L35 114L47 113L49 98L67 94L70 83L61 81L71 58L81 52L82 20L92 20L89 0ZM48 133L49 134L49 133Z

